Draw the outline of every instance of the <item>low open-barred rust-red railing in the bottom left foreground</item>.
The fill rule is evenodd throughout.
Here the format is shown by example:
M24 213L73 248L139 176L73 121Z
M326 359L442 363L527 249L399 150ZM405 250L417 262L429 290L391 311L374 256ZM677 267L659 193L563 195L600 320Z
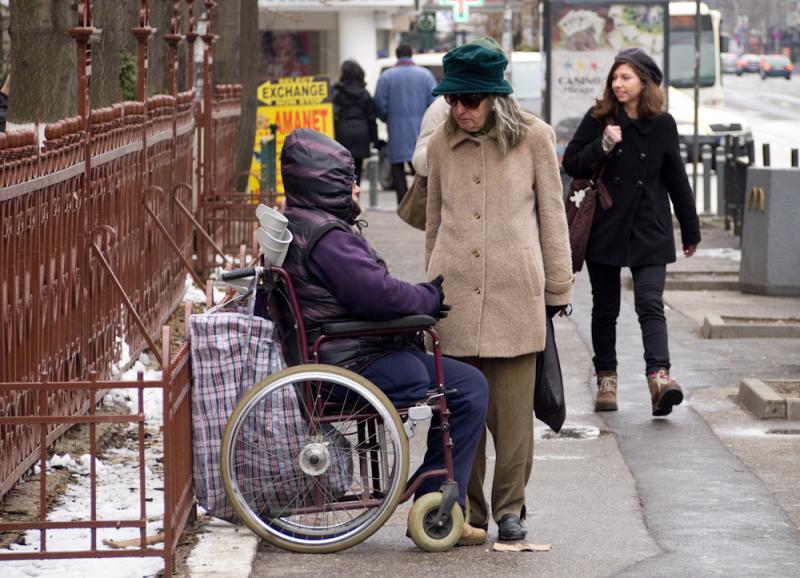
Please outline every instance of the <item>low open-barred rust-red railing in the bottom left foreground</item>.
M97 374L90 372L89 379L78 381L50 381L42 379L29 383L0 383L0 389L8 393L19 392L30 399L29 410L23 415L8 416L0 414L0 427L25 428L38 430L39 437L46 436L52 426L70 427L75 424L88 424L91 459L89 461L89 505L80 519L68 521L52 521L47 519L47 459L46 446L40 446L36 453L36 461L40 468L38 512L30 519L0 523L3 531L36 531L38 532L38 549L35 551L11 550L2 551L0 560L54 559L54 558L119 558L119 557L162 557L164 559L164 575L171 576L173 555L180 540L181 532L189 517L192 506L192 472L191 472L191 375L189 368L188 344L182 345L174 357L169 351L169 328L162 333L162 347L159 358L162 359L162 378L158 381L144 381L139 374L136 381L100 381ZM88 406L85 414L71 413L69 408L58 403L58 399L66 395L82 399L92 399L111 388L129 388L135 391L133 413L95 413L94 404ZM148 504L153 501L148 497L145 481L145 462L147 449L145 446L145 389L157 389L162 396L162 432L164 436L164 488L163 488L163 540L152 540L147 534L147 524L153 515ZM106 482L98 477L97 467L97 425L100 423L130 424L134 432L138 461L138 484L130 490L138 495L138 515L135 517L109 518L98 513L98 495ZM112 482L113 483L113 482ZM160 512L156 512L158 514ZM103 549L104 538L119 536L120 530L132 528L137 537L128 541L127 548ZM69 550L58 550L48 545L48 536L59 531L89 529L83 547L71 546ZM163 545L159 546L163 541Z

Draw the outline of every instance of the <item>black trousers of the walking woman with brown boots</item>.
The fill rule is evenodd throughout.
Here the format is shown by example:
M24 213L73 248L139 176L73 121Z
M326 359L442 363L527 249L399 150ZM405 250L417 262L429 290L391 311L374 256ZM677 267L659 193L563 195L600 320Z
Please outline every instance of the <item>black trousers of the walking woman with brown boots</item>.
M592 346L595 371L617 370L617 317L620 306L620 269L587 261L592 282ZM631 267L633 296L644 342L647 373L669 369L667 319L664 316L666 265Z

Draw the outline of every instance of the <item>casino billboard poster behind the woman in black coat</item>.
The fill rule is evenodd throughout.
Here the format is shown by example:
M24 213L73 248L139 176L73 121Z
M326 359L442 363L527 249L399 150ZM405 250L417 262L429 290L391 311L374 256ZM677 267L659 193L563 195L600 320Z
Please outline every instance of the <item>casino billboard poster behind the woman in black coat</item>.
M556 131L558 156L594 99L602 95L614 56L638 47L666 72L667 3L548 3L548 122Z

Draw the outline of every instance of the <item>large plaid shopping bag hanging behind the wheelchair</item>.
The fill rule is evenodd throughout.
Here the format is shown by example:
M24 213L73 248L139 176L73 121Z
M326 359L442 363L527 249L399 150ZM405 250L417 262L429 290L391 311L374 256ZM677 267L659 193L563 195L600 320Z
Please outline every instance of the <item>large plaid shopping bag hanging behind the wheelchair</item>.
M253 385L285 367L274 324L228 305L189 319L194 386L192 391L193 478L197 501L217 518L235 521L220 472L220 448L227 420L239 399ZM339 498L350 490L352 449L334 427L323 424L313 437L308 432L297 393L282 387L273 392L242 426L240 447L234 448L239 489L258 512L279 512L309 504L314 484L326 496ZM325 443L331 467L313 478L299 464L309 442Z

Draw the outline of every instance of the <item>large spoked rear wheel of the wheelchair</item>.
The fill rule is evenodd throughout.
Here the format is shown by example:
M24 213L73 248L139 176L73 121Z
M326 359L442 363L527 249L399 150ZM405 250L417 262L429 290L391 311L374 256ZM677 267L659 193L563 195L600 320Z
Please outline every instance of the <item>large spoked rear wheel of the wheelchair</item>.
M388 398L330 365L254 386L225 429L222 479L236 513L267 542L336 552L391 516L408 478L408 439Z

